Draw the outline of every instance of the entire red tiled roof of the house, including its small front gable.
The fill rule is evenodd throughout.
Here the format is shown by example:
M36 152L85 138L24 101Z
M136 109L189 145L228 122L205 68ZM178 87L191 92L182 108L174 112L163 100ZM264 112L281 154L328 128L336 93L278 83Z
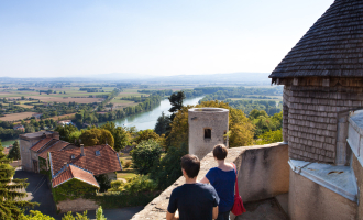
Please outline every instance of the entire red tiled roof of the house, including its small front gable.
M122 170L119 154L108 144L50 152L48 161L53 187L76 178L99 188L95 177L103 175L111 182Z

